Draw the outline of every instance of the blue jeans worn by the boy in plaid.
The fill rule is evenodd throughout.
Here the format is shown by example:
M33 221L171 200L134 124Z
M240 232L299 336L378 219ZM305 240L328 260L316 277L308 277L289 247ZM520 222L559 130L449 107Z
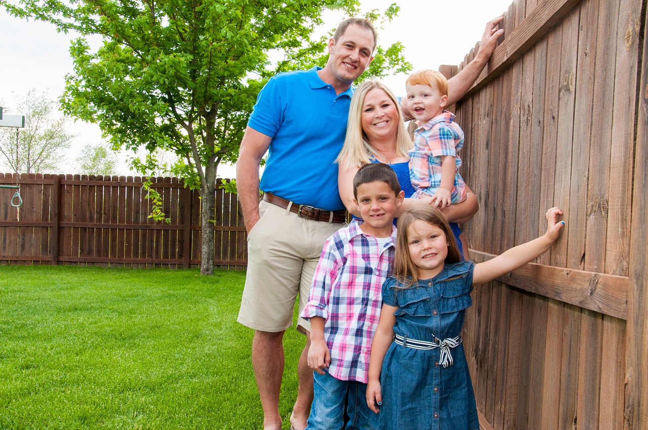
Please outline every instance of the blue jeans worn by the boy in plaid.
M345 403L349 415L346 430L378 429L378 414L367 406L367 384L340 381L324 369L323 375L313 372L313 387L315 398L306 430L340 430L344 425Z

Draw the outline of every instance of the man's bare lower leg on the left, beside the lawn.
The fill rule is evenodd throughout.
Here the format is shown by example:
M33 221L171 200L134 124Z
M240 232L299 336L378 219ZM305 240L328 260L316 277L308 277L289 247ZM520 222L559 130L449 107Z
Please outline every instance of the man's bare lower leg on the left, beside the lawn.
M284 332L255 330L252 340L252 366L263 407L264 430L281 430L279 392L284 370L283 335Z

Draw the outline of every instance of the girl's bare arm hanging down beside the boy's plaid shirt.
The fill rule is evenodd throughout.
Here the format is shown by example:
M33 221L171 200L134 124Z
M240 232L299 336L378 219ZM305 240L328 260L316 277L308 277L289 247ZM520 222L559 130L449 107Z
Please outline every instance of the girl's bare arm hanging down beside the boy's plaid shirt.
M394 324L396 316L394 312L399 308L383 304L380 310L380 321L376 334L371 341L371 354L369 354L369 381L367 382L367 405L369 409L376 414L380 412L382 404L382 395L380 394L380 371L382 370L382 360L387 354L389 345L394 338Z

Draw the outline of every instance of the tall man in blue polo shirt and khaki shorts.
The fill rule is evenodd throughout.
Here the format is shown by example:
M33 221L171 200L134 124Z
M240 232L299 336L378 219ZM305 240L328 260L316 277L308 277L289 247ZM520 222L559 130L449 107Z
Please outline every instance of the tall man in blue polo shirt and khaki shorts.
M488 62L500 18L487 24L476 58L449 82L448 104L476 80ZM365 19L345 19L329 40L323 69L274 76L259 93L241 142L237 188L248 230L248 273L238 322L255 330L252 363L264 413L264 430L280 430L279 392L284 369L283 334L299 313L324 242L345 223L338 194L338 166L344 142L353 81L373 60L377 34ZM259 163L268 160L259 183ZM259 202L259 190L263 199ZM313 386L306 359L310 325L299 358L299 392L291 428L306 427Z

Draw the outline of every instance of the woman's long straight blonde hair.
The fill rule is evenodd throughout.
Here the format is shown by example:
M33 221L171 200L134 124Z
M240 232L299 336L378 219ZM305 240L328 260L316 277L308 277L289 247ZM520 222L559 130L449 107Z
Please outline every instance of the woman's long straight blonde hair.
M349 107L349 121L347 122L347 137L344 140L342 150L335 160L336 163L347 161L347 166L362 166L371 163L370 155L375 152L375 148L367 141L367 135L362 131L362 106L364 105L365 96L372 89L382 89L396 106L398 113L398 124L396 129L396 157L406 157L408 151L412 148L411 138L403 122L403 114L400 111L398 98L389 90L386 85L378 81L365 81L351 98L351 107Z

